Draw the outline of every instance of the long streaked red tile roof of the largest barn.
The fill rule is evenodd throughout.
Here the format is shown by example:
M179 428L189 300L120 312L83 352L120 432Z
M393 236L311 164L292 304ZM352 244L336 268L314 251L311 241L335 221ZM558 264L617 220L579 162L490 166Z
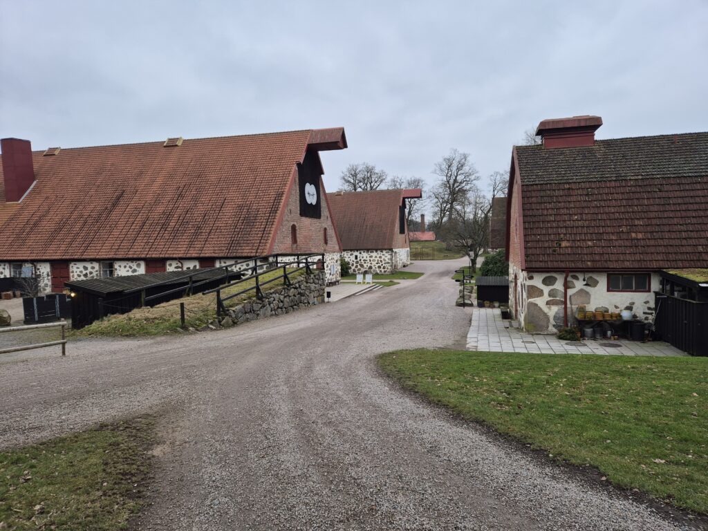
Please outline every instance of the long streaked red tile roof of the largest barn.
M323 137L302 130L33 152L34 188L20 205L0 202L0 259L267 253L312 134ZM2 188L0 178L0 198Z

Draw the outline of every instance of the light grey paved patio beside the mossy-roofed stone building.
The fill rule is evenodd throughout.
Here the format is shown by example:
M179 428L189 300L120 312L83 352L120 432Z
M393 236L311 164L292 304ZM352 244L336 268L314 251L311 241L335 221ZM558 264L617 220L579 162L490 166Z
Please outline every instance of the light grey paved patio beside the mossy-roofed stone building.
M531 334L509 326L501 319L501 309L475 308L467 334L467 349L481 352L525 352L543 354L619 354L634 356L685 356L678 348L663 341L640 343L621 339L562 341L556 336ZM581 344L579 344L581 343ZM607 345L618 346L607 346Z

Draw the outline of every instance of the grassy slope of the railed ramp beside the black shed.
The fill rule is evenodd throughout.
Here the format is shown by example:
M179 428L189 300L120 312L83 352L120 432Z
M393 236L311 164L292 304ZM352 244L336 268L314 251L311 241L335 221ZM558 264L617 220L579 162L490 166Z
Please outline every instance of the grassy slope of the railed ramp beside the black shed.
M266 273L265 275L261 275L260 281L263 283L278 277L281 273L282 269ZM306 274L304 270L290 273L290 280L295 280L304 274ZM245 282L222 290L222 297L227 297L232 293L246 290L246 288L255 285L256 280L251 278ZM272 290L280 286L282 286L282 279L274 280L267 286L264 286L263 290L266 292L266 290ZM224 304L227 308L232 308L246 301L253 300L255 297L255 292L251 291L228 300ZM215 293L210 295L193 295L192 297L183 297L170 302L164 302L163 304L157 304L152 308L137 308L127 314L110 315L83 329L69 331L69 337L137 337L162 336L169 333L178 333L178 329L181 326L179 310L181 302L184 302L185 305L185 325L189 328L199 329L217 318L217 296Z

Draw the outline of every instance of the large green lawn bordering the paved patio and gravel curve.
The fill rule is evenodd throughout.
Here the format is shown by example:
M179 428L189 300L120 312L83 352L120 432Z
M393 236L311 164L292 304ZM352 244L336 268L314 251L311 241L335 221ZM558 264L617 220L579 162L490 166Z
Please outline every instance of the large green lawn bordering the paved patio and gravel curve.
M379 365L464 418L708 513L708 358L400 350Z

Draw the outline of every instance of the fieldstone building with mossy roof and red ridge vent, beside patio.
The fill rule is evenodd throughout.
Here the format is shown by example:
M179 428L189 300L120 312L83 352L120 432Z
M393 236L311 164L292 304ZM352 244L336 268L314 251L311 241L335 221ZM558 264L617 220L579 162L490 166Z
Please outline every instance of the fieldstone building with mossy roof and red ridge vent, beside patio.
M542 144L513 148L510 305L527 331L576 324L581 305L666 322L673 302L700 304L699 283L668 278L708 268L708 132L595 140L602 123L543 120Z

